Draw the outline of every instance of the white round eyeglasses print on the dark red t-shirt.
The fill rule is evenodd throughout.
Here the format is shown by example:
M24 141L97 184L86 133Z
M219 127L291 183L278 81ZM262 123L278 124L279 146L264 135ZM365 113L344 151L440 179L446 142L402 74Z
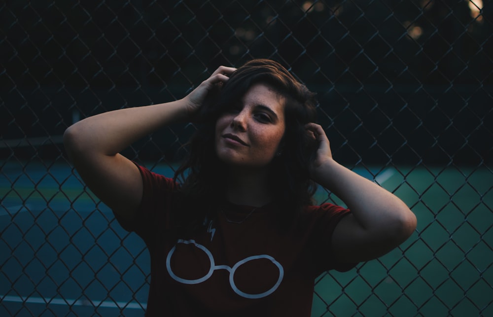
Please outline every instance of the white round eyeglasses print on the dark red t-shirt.
M204 247L203 245L196 243L195 240L181 240L180 239L177 241L177 244L193 245L193 246L201 249L202 251L204 251L207 254L207 256L209 257L209 261L211 262L211 267L209 269L209 272L205 276L203 276L199 279L187 280L187 279L183 279L183 278L178 277L173 272L172 265L171 265L171 258L173 256L173 253L176 250L176 246L175 246L170 250L170 252L168 253L168 256L166 257L166 268L168 269L168 273L170 274L170 276L176 282L180 282L183 284L198 284L198 283L207 281L212 276L214 271L222 269L222 270L226 270L229 272L229 284L231 285L231 288L233 289L233 291L235 293L237 293L238 295L245 297L245 298L257 299L257 298L262 298L262 297L265 297L265 296L272 294L279 287L279 285L282 282L282 278L284 277L284 269L282 268L281 263L279 263L278 261L276 261L275 258L273 258L272 256L267 255L267 254L253 255L253 256L246 257L243 260L238 261L233 267L230 267L228 265L215 265L214 258L212 256L211 251L207 247ZM277 268L279 270L279 278L278 278L277 282L270 289L268 289L267 291L262 292L262 293L250 294L250 293L246 293L244 291L241 291L238 288L238 286L235 284L235 280L234 280L235 272L243 264L250 262L250 261L259 260L259 259L270 260L274 265L277 266Z

